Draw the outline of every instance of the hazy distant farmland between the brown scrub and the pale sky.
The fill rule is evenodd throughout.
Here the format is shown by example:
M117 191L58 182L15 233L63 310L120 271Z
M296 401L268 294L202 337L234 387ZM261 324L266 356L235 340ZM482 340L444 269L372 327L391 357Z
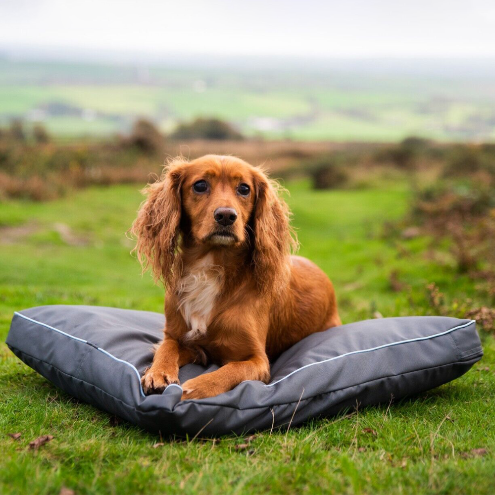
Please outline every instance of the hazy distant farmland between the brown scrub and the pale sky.
M0 58L0 125L12 118L42 121L51 134L70 140L126 132L138 116L164 132L180 121L215 116L266 139L493 140L490 68L480 73L461 65L452 72L439 64L433 70L411 61L409 71L357 62L251 70L199 62L190 70Z

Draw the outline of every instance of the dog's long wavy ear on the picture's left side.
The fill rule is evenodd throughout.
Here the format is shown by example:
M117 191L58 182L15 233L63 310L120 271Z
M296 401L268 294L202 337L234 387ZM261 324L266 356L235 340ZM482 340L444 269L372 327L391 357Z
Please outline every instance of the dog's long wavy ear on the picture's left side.
M171 285L176 269L176 249L179 243L182 212L181 185L188 163L174 160L169 163L160 179L149 184L143 193L138 217L131 227L136 237L134 251L143 267L152 270L155 281Z

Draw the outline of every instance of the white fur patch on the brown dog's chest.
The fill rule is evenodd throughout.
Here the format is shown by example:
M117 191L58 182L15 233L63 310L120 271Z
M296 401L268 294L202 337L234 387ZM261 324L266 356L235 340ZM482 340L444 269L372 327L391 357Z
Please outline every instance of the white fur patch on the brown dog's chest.
M179 281L179 310L190 329L186 334L187 340L206 334L215 299L222 290L223 277L222 267L213 264L213 255L207 254Z

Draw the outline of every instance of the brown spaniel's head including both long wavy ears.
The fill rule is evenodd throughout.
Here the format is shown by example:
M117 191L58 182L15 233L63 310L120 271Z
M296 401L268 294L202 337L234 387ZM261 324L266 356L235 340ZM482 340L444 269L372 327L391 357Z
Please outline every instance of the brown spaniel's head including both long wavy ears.
M297 241L279 186L258 168L232 156L171 161L145 189L147 200L132 226L136 251L156 279L173 282L176 251L246 248L260 288L270 290ZM182 245L181 245L182 239Z

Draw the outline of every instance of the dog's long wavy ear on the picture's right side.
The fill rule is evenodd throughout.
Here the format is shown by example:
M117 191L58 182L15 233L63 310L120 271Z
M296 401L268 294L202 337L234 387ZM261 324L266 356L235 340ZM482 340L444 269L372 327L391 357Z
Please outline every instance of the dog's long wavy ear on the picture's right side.
M297 237L290 226L291 212L279 197L278 182L259 169L253 172L256 202L253 214L252 262L260 292L278 291L286 282L287 256L297 249Z

